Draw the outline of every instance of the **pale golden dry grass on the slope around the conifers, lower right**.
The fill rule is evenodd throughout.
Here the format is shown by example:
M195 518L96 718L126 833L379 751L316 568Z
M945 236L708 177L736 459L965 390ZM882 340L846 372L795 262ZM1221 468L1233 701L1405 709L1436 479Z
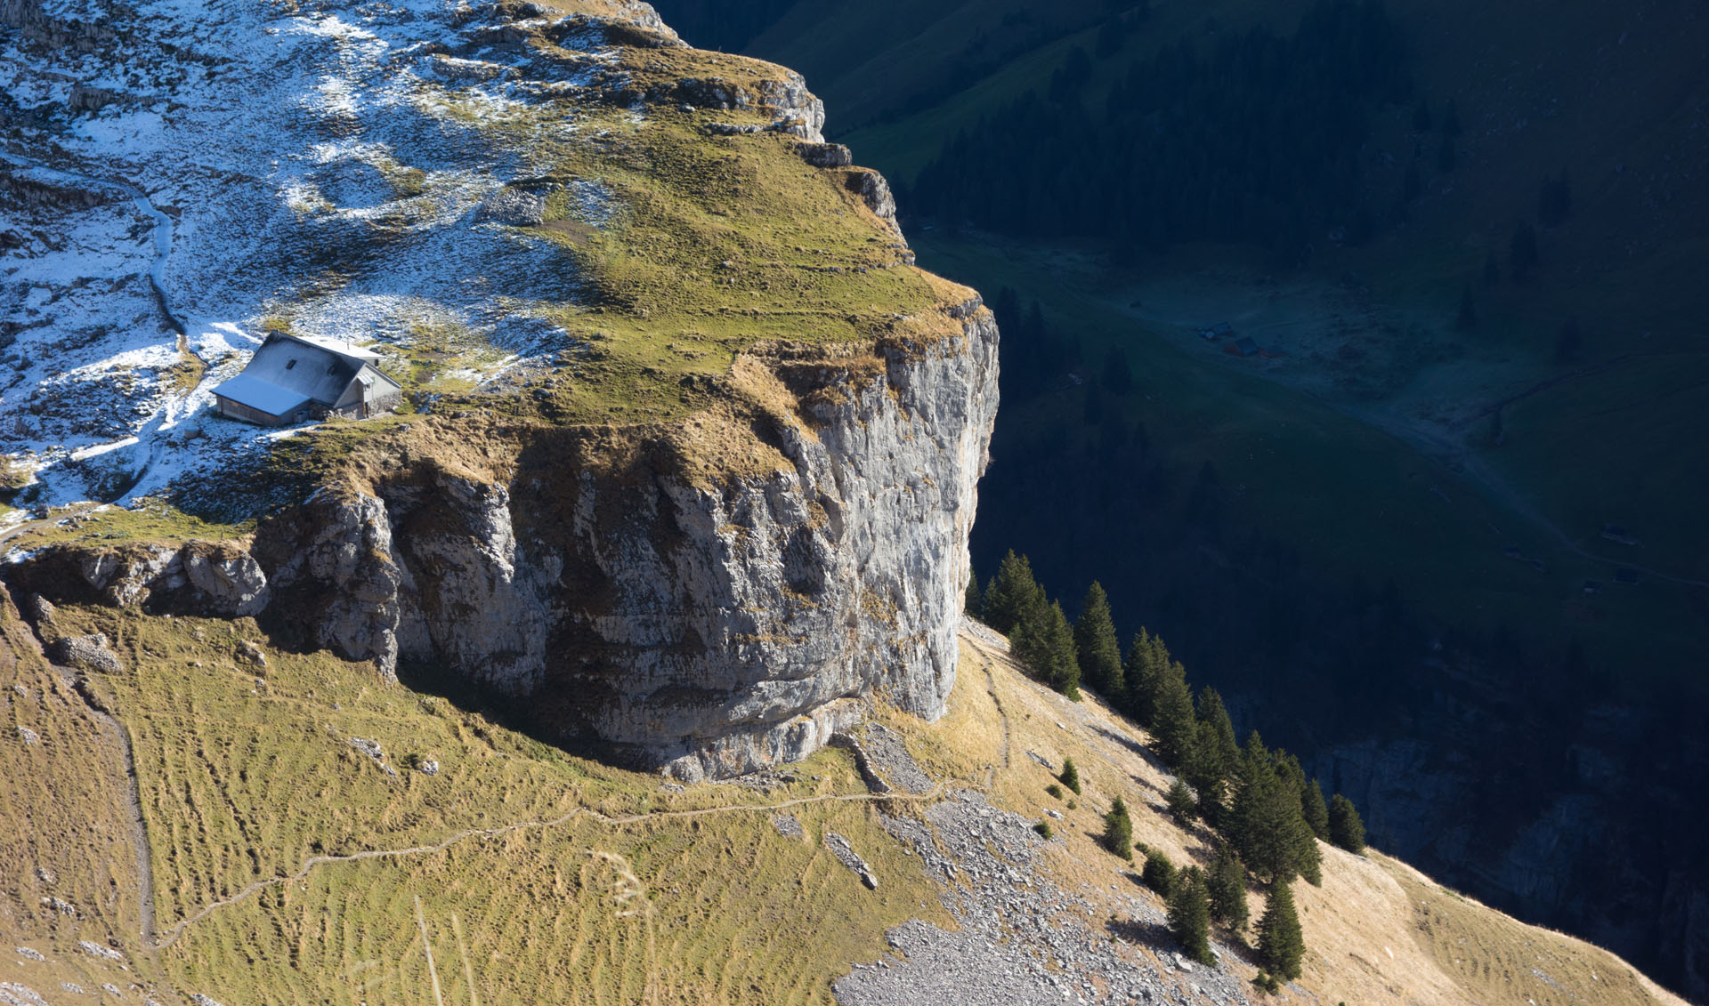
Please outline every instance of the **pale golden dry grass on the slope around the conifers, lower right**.
M1008 721L1007 770L998 704ZM1178 866L1208 864L1213 856L1208 832L1184 830L1167 816L1164 794L1171 777L1138 748L1148 740L1143 731L1095 695L1087 693L1077 704L1031 681L1003 647L964 635L950 714L937 724L894 717L892 726L916 740L916 755L937 772L984 779L988 767L995 769L990 770L995 803L1041 820L1046 808L1061 811L1065 820L1051 825L1063 844L1048 864L1065 890L1094 904L1102 900L1092 922L1118 914L1118 904L1107 898L1113 885L1123 893L1140 890L1131 876L1136 864L1118 859L1099 840L1102 813L1116 796L1133 811L1135 840L1162 849ZM1054 775L1027 752L1053 765L1065 757L1075 760L1084 791L1078 810L1068 810L1072 793L1056 799L1044 791ZM1307 946L1301 986L1319 1003L1683 1006L1605 950L1461 898L1379 852L1360 857L1321 847L1323 886L1304 881L1294 886ZM1263 912L1256 888L1251 912L1254 921ZM1239 946L1234 934L1213 933L1213 938ZM1242 977L1258 972L1246 960L1230 965ZM1249 996L1263 997L1256 987Z

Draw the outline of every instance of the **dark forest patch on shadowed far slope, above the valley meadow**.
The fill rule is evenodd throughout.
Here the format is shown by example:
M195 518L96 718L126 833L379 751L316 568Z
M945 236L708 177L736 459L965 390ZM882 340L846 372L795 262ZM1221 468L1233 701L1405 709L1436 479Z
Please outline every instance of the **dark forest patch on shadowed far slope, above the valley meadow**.
M1183 39L1092 91L1094 58L1116 44L1097 56L1072 48L1044 94L959 132L904 202L1020 237L1102 237L1123 256L1210 239L1297 260L1331 227L1369 241L1377 213L1359 178L1369 116L1413 87L1381 5L1319 3L1292 36L1219 32L1205 53ZM1417 173L1407 178L1415 196ZM1396 191L1381 217L1407 196Z

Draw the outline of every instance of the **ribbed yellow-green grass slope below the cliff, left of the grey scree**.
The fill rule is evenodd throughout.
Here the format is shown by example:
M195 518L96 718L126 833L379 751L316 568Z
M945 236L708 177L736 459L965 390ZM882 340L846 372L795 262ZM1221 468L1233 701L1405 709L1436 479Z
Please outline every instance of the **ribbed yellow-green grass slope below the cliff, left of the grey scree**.
M126 893L132 914L115 907L99 939L116 934L178 989L222 1003L825 1003L890 926L947 922L841 752L769 794L670 793L366 664L273 651L250 622L62 606L56 623L108 634L125 663L91 687L135 740L159 950L138 933L135 873L89 869L135 863L128 835L62 873ZM265 670L239 659L244 640L261 640ZM111 803L103 765L89 781ZM77 796L91 769L67 765L51 787ZM781 803L807 840L771 823ZM34 806L7 820L63 842ZM827 830L873 864L878 890L824 847ZM5 849L12 873L34 861Z

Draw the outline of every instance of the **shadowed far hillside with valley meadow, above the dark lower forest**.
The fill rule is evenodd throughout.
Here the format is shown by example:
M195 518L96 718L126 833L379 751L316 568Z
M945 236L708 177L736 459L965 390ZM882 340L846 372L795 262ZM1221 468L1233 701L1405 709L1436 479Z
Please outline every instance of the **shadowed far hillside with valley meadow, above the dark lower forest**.
M1598 663L1688 673L1709 582L1688 502L1709 470L1675 449L1700 430L1690 389L1709 359L1690 323L1702 294L1682 273L1709 237L1699 186L1677 167L1702 159L1690 121L1706 26L1690 5L1543 15L1396 0L1377 5L1388 55L1347 26L1301 27L1324 24L1319 9L1369 20L1357 3L892 7L796 5L747 46L807 73L839 111L831 133L914 195L904 212L931 225L930 265L1044 307L1075 343L1020 360L1049 371L1048 388L1097 383L1121 354L1140 396L1107 403L1130 430L1143 424L1166 466L1210 461L1248 487L1229 500L1242 531L1331 577L1393 579L1437 623L1579 637ZM928 46L948 55L911 58ZM1316 108L1292 84L1374 72L1336 61L1367 56L1389 75L1338 85L1352 109ZM1278 60L1311 72L1271 80ZM1345 166L1340 121L1324 121L1343 113L1357 113ZM1287 198L1318 181L1333 205ZM1241 202L1253 193L1306 215ZM967 222L978 231L959 232ZM1535 265L1514 258L1521 225ZM1007 321L1017 359L1032 347ZM1198 338L1219 321L1270 355ZM1077 437L1080 398L1048 396L1022 420L1010 396L1008 453ZM1010 502L998 488L988 528ZM983 538L984 560L1029 521ZM1642 545L1603 540L1603 524ZM1586 596L1617 567L1646 586Z

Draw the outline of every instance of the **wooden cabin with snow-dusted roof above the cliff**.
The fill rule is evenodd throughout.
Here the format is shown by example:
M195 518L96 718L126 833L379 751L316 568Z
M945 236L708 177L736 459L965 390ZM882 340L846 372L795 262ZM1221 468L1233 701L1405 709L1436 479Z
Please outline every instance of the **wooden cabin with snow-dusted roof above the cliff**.
M270 427L328 415L367 418L403 398L378 364L367 350L275 331L214 398L220 415Z

